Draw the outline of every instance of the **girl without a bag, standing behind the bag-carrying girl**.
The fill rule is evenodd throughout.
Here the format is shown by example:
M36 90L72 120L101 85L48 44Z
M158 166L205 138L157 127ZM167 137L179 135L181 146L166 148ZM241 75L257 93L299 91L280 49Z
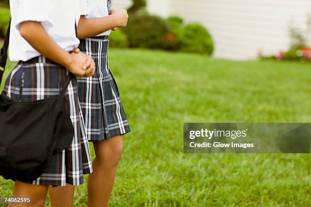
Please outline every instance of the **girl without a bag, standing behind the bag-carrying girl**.
M112 1L104 4L105 1L87 0L89 14L81 18L78 26L78 37L82 38L79 49L94 58L96 64L94 76L78 79L86 134L96 154L94 172L88 177L88 206L107 206L122 154L122 135L130 132L107 55L110 29L125 27L128 14L126 10L111 9L109 15ZM70 205L67 197L72 191L66 188L50 189L53 206Z

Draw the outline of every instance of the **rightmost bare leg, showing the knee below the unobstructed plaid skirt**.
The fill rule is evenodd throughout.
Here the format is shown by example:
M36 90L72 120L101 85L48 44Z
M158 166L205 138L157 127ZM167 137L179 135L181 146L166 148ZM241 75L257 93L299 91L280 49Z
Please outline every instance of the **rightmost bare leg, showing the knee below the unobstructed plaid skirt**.
M113 136L109 140L94 142L96 158L93 172L88 176L87 192L88 206L108 206L114 178L123 150L121 135Z

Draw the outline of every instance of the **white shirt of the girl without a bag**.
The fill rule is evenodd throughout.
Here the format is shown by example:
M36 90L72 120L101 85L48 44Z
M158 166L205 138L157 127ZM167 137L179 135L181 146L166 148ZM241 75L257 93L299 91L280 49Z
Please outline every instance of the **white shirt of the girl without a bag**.
M109 16L112 0L86 0L88 15L85 18L101 18ZM109 36L111 30L105 31L97 36Z

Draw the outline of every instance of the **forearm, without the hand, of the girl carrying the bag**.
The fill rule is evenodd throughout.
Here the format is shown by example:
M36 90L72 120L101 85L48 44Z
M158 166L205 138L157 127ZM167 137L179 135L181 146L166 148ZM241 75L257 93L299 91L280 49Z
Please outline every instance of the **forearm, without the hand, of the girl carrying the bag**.
M21 36L45 57L67 68L71 65L70 54L50 38L40 22L24 21L20 23L19 31Z

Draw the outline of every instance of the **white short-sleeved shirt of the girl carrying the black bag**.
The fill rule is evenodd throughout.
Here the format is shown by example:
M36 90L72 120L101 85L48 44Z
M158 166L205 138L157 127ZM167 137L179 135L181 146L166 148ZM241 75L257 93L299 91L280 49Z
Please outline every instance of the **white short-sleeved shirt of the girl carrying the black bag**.
M39 21L56 44L66 51L77 48L75 21L86 15L85 0L10 0L11 33L9 56L11 61L27 61L41 55L23 39L19 24L23 21Z

